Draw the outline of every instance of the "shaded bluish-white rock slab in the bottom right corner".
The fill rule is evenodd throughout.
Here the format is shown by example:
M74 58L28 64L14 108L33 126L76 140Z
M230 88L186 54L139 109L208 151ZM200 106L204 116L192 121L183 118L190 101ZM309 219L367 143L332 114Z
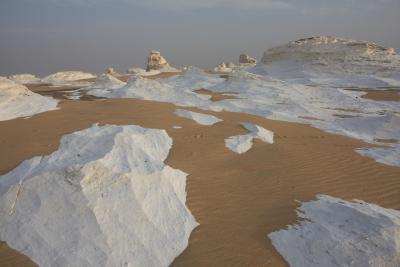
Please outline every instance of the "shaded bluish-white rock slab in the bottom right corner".
M400 212L320 195L303 203L302 219L270 233L291 267L400 266Z

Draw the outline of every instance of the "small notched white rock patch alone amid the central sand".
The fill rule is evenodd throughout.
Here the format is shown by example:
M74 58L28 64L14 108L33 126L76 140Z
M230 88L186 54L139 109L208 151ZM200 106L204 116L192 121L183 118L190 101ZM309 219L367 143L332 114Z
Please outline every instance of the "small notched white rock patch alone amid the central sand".
M250 131L248 134L234 135L225 139L225 146L235 153L243 154L249 151L253 146L253 139L260 139L261 141L273 144L274 133L252 123L241 123L241 125Z

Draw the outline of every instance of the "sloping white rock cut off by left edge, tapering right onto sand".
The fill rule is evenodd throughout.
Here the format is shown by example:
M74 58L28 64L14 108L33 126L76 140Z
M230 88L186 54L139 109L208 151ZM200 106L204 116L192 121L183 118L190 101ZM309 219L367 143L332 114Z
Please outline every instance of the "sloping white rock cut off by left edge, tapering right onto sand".
M57 109L58 101L36 94L25 86L0 78L0 121Z

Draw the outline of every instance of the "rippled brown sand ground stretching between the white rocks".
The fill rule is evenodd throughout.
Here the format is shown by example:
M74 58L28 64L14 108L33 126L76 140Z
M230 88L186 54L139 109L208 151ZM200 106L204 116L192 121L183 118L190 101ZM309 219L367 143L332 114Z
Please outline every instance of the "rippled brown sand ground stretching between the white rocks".
M287 266L267 234L296 222L296 200L316 194L400 209L400 168L358 155L354 149L367 146L361 141L240 113L201 111L224 120L201 126L174 115L172 104L143 100L61 100L59 106L0 122L0 173L55 151L61 136L93 123L166 129L174 142L167 164L190 174L187 205L200 223L172 266ZM224 139L246 133L240 122L272 130L275 143L255 141L247 153L233 153ZM35 265L3 244L0 266Z

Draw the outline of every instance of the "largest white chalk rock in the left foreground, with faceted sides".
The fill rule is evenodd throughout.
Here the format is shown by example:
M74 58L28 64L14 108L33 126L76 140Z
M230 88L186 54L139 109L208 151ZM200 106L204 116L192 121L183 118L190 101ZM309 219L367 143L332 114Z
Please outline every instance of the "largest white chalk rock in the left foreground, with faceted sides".
M168 266L197 223L164 130L92 126L0 176L0 240L42 267Z

